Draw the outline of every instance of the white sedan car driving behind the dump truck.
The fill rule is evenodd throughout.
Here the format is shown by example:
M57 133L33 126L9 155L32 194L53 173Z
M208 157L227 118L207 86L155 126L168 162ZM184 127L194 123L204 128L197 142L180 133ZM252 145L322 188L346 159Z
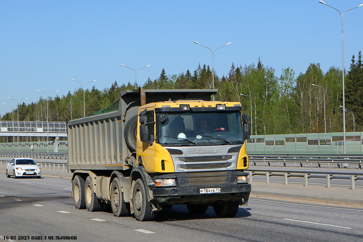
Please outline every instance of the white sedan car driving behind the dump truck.
M33 159L14 158L6 167L6 177L37 177L41 176L40 164L37 164Z

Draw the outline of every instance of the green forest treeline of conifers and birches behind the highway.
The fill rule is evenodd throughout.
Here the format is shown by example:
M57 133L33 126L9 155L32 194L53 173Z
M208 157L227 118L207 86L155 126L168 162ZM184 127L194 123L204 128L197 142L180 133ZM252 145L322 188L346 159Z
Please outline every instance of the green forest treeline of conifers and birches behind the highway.
M363 128L363 64L361 52L358 60L352 56L349 70L344 75L346 109L354 114L355 131ZM168 75L163 69L160 77L150 78L143 89L210 89L212 70L208 65L197 66L181 74ZM315 84L317 86L313 86ZM227 76L214 73L214 85L218 89L216 100L239 101L244 113L250 116L252 101L253 134L296 134L324 132L324 99L326 132L343 131L342 70L331 66L326 73L319 63L310 63L305 73L297 76L292 68L282 70L280 77L272 67L264 66L260 58L257 65L232 63ZM321 87L319 87L321 86ZM135 89L130 82L98 90L95 86L85 92L86 116L107 108L119 99L121 90ZM248 95L242 96L240 94ZM83 88L62 97L49 98L49 120L68 121L83 117ZM19 120L46 121L47 100L40 97L36 103L19 104ZM256 120L254 117L261 120ZM17 120L16 108L1 117L1 120ZM256 121L255 121L256 120ZM346 112L346 130L353 131L353 118Z

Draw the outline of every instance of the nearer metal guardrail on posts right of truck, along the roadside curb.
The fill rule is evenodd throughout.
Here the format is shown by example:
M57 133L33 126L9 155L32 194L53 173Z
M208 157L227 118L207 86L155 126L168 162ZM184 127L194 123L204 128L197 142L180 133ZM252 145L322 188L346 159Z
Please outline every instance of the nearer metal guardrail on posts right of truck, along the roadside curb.
M330 169L330 170L329 170ZM254 173L265 173L266 176L266 183L269 184L270 180L269 177L273 175L273 173L275 173L274 175L280 175L281 173L284 175L284 184L287 185L287 177L290 177L290 175L292 173L297 173L298 175L303 175L304 177L304 186L308 185L308 178L310 177L311 174L317 174L317 175L325 175L326 176L326 187L330 188L330 180L333 179L333 175L345 175L345 176L350 176L350 189L354 190L355 189L355 180L358 179L358 176L363 176L363 172L362 171L337 171L335 169L326 169L326 170L322 170L322 169L301 169L301 168L294 168L294 169L286 169L286 168L275 168L273 169L272 167L250 167L246 172L249 173L250 175L250 181L252 182L252 176L253 175L257 175ZM329 170L329 171L328 171ZM277 173L277 174L276 174Z

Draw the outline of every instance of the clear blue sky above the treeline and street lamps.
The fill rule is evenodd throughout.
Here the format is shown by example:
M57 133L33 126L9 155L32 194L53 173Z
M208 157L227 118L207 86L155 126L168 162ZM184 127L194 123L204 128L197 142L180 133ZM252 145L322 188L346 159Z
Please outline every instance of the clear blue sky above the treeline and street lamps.
M363 0L326 0L344 12ZM363 50L363 7L344 15L344 66ZM311 62L342 68L341 17L318 0L305 1L1 1L0 114L16 102L60 97L79 87L114 81L140 85L167 74L193 72L198 63L227 75L232 62L305 73ZM83 87L83 86L82 86ZM45 97L45 95L42 95ZM54 94L50 94L54 97Z

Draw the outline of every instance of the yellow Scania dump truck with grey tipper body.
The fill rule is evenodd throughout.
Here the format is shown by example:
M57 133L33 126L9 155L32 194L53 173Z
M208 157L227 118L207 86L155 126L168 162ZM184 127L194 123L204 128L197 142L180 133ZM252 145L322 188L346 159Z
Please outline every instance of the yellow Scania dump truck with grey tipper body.
M111 207L151 221L185 204L233 217L248 201L249 117L216 90L123 90L104 113L68 122L68 171L77 209Z

